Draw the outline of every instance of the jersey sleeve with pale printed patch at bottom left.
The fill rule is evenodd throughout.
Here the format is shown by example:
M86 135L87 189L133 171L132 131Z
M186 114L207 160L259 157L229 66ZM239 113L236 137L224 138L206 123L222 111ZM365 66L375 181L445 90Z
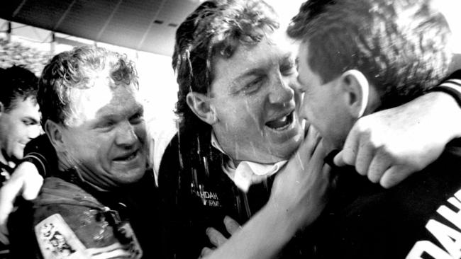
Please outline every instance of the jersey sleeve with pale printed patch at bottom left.
M143 252L130 224L109 223L106 213L76 205L45 205L34 212L38 251L45 259L141 258ZM123 230L121 230L123 229Z

